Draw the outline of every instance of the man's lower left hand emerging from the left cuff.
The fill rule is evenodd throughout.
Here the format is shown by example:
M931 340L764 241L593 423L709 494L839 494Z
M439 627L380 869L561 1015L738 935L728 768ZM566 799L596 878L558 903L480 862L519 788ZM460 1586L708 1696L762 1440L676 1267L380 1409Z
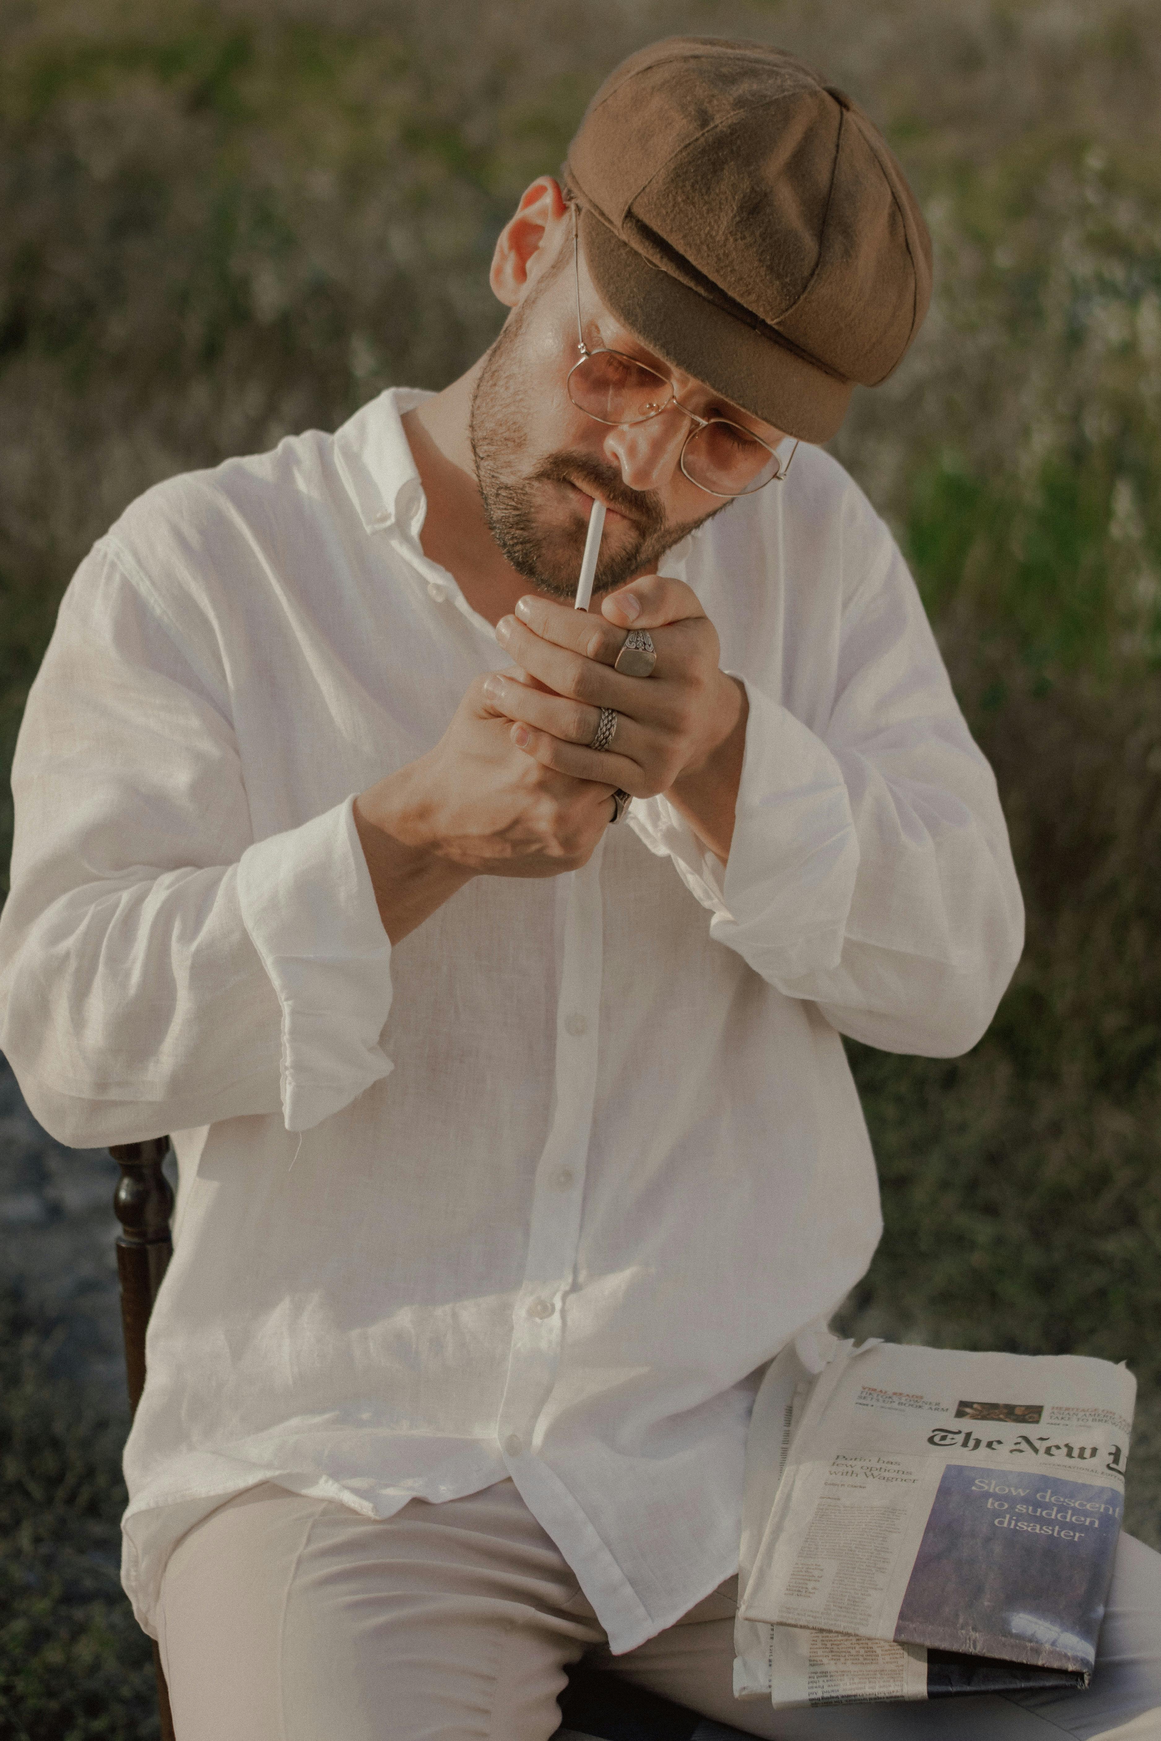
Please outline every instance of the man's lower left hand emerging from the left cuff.
M520 754L484 695L487 681L470 686L435 749L355 799L393 944L473 876L576 870L611 822L614 787Z

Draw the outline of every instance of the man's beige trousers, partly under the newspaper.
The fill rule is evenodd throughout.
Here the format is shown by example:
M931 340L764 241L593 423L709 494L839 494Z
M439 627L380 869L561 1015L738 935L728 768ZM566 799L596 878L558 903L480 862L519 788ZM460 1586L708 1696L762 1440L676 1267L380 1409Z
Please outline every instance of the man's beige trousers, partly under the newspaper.
M510 1480L413 1499L386 1520L261 1485L178 1543L160 1647L178 1741L548 1741L581 1656L700 1711L695 1741L714 1741L715 1724L771 1741L1161 1741L1161 1555L1135 1541L1102 1633L1109 1668L1090 1692L1029 1703L775 1711L735 1699L735 1602L731 1577L611 1656Z

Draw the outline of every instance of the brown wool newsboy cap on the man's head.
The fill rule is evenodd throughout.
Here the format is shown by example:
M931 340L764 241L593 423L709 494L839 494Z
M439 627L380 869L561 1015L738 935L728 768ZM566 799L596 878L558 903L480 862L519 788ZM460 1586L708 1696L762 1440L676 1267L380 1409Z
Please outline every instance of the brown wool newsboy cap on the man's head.
M881 132L757 42L668 37L569 146L599 296L651 350L789 435L837 430L923 324L931 237Z

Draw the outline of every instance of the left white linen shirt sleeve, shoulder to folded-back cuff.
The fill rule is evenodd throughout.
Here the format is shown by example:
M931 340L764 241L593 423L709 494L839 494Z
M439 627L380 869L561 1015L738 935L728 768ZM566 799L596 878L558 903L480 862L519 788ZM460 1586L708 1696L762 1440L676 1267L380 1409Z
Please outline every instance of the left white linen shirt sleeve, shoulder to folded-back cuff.
M73 578L12 768L0 1046L78 1146L282 1112L390 1060L390 942L352 797L254 841L228 696L103 540Z

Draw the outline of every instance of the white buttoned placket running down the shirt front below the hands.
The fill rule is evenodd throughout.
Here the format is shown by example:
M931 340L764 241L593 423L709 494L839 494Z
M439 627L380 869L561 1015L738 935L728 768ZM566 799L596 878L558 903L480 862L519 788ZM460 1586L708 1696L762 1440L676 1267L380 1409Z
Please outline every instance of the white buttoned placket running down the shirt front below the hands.
M512 1313L512 1351L496 1435L508 1464L536 1452L536 1421L555 1382L566 1299L574 1281L585 1168L597 1093L601 1015L601 857L559 879L564 951L557 996L555 1097L533 1180L524 1280Z

